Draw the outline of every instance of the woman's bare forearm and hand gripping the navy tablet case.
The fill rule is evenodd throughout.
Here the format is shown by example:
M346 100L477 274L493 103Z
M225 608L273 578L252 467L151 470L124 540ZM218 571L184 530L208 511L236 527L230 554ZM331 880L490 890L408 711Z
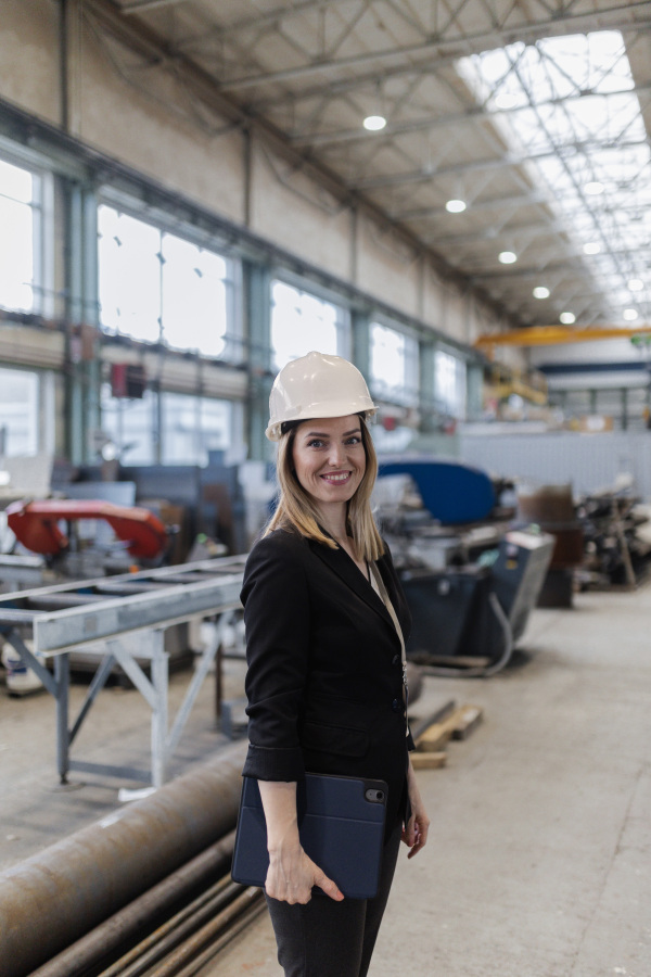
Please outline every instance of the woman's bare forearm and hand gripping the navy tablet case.
M344 893L308 858L298 840L296 820L296 784L285 781L258 781L265 820L269 871L265 891L281 902L311 899L312 886L319 886L331 899L341 902Z

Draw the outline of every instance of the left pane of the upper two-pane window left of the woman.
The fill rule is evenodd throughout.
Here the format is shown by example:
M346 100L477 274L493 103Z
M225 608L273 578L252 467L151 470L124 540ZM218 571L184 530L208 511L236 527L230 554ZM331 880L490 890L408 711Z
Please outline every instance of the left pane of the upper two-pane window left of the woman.
M99 277L101 322L133 339L161 337L161 231L100 206Z

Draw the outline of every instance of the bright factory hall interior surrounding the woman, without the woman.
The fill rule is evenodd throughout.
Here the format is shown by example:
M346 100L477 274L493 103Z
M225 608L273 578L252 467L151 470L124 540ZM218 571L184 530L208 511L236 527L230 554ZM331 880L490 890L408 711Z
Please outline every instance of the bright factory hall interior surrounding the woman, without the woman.
M649 977L650 134L651 2L0 0L0 977L283 973L240 592L314 351L431 819L369 977Z

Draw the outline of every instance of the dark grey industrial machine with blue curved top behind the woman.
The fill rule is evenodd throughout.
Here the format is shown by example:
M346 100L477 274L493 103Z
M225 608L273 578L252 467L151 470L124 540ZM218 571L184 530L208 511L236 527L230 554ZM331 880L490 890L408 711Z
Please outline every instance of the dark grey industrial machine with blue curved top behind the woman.
M408 477L421 503L384 495L378 513L413 618L408 658L441 674L494 674L524 633L554 537L514 530L488 475L452 459L392 458L379 475L381 490Z

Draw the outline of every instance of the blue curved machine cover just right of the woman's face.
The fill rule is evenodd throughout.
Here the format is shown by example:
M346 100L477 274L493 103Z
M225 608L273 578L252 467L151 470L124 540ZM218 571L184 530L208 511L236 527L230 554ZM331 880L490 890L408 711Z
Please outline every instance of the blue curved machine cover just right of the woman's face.
M481 522L495 505L488 475L450 458L392 457L380 461L378 474L410 475L425 508L444 524Z

